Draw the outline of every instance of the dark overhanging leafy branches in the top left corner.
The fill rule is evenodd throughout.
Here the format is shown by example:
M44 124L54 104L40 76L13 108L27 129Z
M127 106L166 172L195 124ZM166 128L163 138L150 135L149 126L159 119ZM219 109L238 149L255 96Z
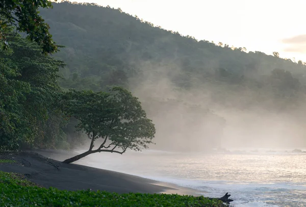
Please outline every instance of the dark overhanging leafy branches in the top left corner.
M47 0L0 0L0 40L6 48L9 44L4 30L13 25L18 32L25 32L28 38L41 46L43 53L54 53L57 45L49 33L49 25L39 15L38 8L52 8Z

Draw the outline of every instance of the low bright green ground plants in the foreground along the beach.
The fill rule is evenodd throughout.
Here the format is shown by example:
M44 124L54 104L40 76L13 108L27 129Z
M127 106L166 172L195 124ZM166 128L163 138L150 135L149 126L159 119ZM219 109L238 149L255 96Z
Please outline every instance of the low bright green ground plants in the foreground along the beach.
M176 194L117 194L106 191L61 191L40 188L15 173L0 171L3 206L223 206L221 201Z

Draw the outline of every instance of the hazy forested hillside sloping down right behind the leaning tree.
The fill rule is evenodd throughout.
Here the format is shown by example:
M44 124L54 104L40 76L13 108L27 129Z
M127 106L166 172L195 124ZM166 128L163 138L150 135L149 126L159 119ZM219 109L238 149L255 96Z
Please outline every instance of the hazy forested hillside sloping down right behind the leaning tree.
M304 121L295 117L304 111L306 66L302 61L184 37L120 9L94 4L64 2L41 14L54 39L66 46L55 55L67 64L61 70L65 79L60 85L94 91L109 85L131 89L157 124L157 139L165 145L175 140L180 149L186 148L186 137L196 140L197 146L215 139L220 143L223 118L230 121L228 110L243 112L242 116L285 113L291 124ZM212 121L203 114L196 119L188 112L193 105L219 118ZM210 132L208 123L215 127ZM272 124L271 128L277 127Z

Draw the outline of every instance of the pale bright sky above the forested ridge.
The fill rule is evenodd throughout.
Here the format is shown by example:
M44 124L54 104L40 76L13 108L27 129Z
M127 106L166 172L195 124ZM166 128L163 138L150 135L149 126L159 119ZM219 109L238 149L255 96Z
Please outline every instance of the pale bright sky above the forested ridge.
M71 1L72 2L72 1ZM306 0L74 0L125 13L190 35L248 51L306 62Z

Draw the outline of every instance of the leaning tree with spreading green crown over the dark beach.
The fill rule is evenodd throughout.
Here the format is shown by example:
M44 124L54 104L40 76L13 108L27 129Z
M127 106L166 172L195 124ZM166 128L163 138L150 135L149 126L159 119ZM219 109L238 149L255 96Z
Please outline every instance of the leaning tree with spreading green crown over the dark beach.
M137 97L131 92L113 87L110 92L69 90L63 94L60 108L80 122L78 131L91 139L88 151L69 158L72 163L95 152L122 154L126 149L140 151L153 143L155 126L146 117ZM95 141L101 142L95 147Z

